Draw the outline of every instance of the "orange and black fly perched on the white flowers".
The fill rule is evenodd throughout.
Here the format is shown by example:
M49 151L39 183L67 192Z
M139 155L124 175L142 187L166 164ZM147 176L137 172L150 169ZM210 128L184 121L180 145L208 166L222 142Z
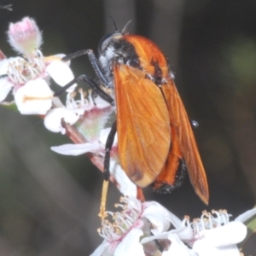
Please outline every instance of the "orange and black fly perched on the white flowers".
M195 193L207 204L207 176L191 123L158 46L148 38L116 30L102 38L98 59L89 49L63 60L83 54L89 55L97 80L82 75L63 90L83 80L116 105L116 123L106 144L105 179L109 178L110 151L117 131L120 164L133 183L142 188L154 183L154 190L171 192L180 183L180 172L187 169Z

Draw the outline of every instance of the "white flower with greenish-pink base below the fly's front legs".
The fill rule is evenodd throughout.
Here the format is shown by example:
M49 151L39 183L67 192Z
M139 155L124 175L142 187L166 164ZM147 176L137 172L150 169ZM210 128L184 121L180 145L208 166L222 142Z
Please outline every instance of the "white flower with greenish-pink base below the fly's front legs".
M92 91L89 90L89 93L84 95L84 91L79 90L78 100L74 99L75 92L68 93L66 107L61 105L46 114L45 127L49 131L65 133L65 129L61 125L62 119L69 125L74 125L79 121L76 127L84 139L90 143L97 142L114 108L99 96L92 99L91 93ZM76 146L74 145L74 147ZM81 152L81 154L85 152Z

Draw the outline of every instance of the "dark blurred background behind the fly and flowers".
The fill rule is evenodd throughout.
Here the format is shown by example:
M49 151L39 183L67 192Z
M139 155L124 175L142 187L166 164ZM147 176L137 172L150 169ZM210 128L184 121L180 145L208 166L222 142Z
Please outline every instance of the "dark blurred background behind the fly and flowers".
M151 38L169 57L207 170L210 204L195 195L189 178L172 195L155 200L177 214L225 208L236 217L256 198L255 0L14 0L0 9L0 48L9 22L30 16L44 32L44 55L94 49L120 29ZM93 76L86 56L73 61L76 75ZM84 86L84 84L81 84ZM102 239L96 229L102 173L86 157L63 156L50 146L67 143L35 116L0 108L0 255L89 255ZM119 200L111 185L108 209ZM255 253L251 245L248 253Z

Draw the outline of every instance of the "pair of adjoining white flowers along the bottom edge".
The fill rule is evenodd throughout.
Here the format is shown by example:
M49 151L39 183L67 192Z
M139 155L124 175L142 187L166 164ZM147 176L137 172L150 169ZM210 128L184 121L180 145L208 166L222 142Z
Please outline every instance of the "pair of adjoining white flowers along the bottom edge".
M102 223L104 241L91 256L239 256L236 244L247 235L243 223L256 214L254 208L230 221L226 211L203 212L189 223L155 201L142 203L130 196L121 202L121 211L108 212L113 223Z

